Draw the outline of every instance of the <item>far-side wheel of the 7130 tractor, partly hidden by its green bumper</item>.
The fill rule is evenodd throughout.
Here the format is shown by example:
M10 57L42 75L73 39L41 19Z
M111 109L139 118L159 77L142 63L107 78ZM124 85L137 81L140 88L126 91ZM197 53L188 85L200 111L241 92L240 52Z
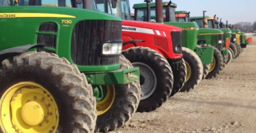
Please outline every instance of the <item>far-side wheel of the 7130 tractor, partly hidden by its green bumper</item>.
M123 55L119 57L120 69L133 68ZM141 87L139 80L127 85L98 86L103 96L97 101L96 132L109 132L122 127L134 115L139 105Z

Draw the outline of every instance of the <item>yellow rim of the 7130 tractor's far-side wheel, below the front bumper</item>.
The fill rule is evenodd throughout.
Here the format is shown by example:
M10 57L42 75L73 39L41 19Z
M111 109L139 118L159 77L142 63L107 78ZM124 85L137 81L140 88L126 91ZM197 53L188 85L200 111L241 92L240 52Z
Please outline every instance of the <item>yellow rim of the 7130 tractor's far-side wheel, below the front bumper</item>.
M115 100L115 86L106 85L106 96L100 102L97 102L97 115L102 115L108 111ZM103 87L102 87L103 88Z

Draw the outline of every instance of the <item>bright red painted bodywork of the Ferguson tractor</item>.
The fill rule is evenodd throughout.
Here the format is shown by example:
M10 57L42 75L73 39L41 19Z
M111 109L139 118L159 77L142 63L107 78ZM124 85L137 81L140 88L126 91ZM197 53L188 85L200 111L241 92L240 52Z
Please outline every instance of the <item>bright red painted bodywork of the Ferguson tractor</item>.
M128 27L144 28L147 31L150 31L147 33L122 31L123 42L126 42L128 40L145 40L145 42L137 42L136 43L137 46L152 48L153 50L158 51L158 53L160 53L163 57L167 59L178 59L182 57L182 53L181 54L173 53L173 44L171 40L171 31L182 32L182 29L180 29L180 27L174 27L171 25L164 25L160 23L134 21L134 20L123 20L122 25L128 26ZM137 31L139 31L138 28L137 28ZM154 40L154 37L156 37L158 40ZM163 38L163 40L159 40L160 38ZM158 45L154 44L155 42L158 43L160 41L162 41L164 44L158 44ZM166 44L167 46L165 46L165 43L167 43ZM133 46L132 44L126 44L125 46L123 46L123 50L131 48L132 46Z

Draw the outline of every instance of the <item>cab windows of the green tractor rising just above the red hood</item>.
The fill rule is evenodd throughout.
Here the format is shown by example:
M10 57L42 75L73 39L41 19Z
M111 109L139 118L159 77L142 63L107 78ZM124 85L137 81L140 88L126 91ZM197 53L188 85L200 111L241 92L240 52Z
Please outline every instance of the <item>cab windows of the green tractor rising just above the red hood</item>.
M166 16L167 16L167 8L162 9L162 14L164 18L164 22L167 21ZM139 21L147 21L147 8L139 8L136 10L137 11L137 20ZM156 22L156 8L150 8L150 22Z

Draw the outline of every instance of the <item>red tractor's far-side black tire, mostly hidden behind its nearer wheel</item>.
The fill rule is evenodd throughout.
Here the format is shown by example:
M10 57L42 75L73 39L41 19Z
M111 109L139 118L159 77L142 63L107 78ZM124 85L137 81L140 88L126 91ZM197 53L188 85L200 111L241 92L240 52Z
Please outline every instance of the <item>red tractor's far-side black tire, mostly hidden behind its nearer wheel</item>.
M173 70L173 69L172 69ZM173 70L173 89L171 91L170 97L178 93L180 89L184 86L186 80L186 63L184 59L182 59L182 65L178 70Z

